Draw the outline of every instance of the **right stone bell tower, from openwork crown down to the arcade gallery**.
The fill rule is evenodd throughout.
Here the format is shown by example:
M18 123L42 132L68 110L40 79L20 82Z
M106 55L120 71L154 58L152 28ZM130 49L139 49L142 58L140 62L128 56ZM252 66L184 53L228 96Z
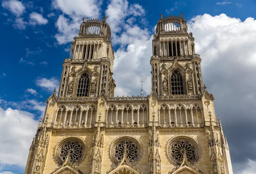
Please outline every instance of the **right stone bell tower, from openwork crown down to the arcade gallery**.
M162 17L152 42L152 91L157 95L201 95L201 58L195 53L195 38L187 33L181 16Z

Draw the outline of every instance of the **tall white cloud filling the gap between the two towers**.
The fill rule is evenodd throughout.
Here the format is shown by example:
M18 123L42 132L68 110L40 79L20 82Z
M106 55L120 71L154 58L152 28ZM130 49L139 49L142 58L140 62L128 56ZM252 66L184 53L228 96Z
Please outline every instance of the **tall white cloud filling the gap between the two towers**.
M139 4L129 4L127 0L112 0L105 13L111 27L112 44L119 45L113 70L115 96L140 95L141 79L145 81L144 94L149 94L152 38L148 28L134 24L145 15L145 10Z

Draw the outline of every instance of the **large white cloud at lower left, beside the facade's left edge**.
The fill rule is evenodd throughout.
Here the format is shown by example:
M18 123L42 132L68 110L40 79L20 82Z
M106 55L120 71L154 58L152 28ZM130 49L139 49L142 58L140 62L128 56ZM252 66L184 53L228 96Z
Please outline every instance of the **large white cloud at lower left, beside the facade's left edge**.
M25 166L38 121L32 113L0 107L0 163ZM3 174L12 174L3 171Z

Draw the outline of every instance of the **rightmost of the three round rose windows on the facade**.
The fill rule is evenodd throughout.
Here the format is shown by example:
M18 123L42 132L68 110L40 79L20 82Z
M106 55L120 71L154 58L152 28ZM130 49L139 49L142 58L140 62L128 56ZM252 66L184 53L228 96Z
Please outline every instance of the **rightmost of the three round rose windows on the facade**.
M189 162L193 162L196 156L195 146L187 140L178 140L171 145L171 155L175 161L181 163L183 160L183 154L186 154L186 158Z

